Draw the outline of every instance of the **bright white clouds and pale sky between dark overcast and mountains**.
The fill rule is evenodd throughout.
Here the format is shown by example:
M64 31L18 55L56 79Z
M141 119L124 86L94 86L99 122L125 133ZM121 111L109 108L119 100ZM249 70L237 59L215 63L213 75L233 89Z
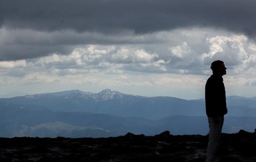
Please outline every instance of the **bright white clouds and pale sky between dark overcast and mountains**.
M5 29L7 32L11 33ZM69 32L51 37L55 40ZM130 36L130 44L80 44L66 55L0 61L1 95L70 89L97 93L109 88L134 95L199 99L213 60L225 61L227 95L254 95L248 87L256 83L256 48L247 36L211 28L183 28L139 37L156 41L136 44L137 36Z

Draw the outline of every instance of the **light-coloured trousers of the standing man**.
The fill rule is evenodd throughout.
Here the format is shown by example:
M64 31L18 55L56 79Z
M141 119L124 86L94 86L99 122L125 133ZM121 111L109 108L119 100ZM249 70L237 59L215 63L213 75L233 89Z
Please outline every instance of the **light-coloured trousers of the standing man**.
M221 138L224 117L209 117L209 141L207 145L206 162L215 161L217 149Z

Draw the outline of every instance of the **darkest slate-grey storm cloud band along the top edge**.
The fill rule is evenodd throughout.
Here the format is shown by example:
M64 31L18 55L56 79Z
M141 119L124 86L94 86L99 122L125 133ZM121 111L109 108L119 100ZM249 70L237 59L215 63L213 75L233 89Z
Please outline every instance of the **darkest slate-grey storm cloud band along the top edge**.
M254 0L2 0L0 24L33 30L136 33L187 26L255 34Z

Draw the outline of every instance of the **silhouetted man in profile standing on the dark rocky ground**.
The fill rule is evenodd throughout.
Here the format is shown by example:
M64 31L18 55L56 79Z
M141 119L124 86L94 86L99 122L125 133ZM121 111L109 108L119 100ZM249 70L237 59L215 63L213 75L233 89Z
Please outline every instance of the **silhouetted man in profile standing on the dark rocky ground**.
M227 114L225 87L222 76L226 74L223 61L211 63L213 74L205 85L205 109L209 122L209 141L206 161L215 161L217 148L221 138L224 115Z

